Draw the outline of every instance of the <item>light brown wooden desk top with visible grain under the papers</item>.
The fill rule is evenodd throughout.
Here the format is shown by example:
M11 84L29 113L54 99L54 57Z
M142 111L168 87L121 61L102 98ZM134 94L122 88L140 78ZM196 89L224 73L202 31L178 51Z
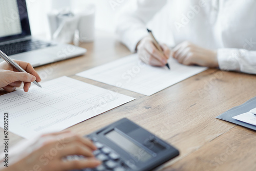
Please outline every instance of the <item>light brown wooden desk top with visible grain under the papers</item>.
M85 135L127 117L180 150L161 170L256 170L255 132L215 118L256 96L254 75L209 69L147 97L75 76L131 54L114 35L98 32L94 43L81 47L88 50L86 55L36 70L44 81L66 75L136 100L68 130ZM11 145L22 139L10 136Z

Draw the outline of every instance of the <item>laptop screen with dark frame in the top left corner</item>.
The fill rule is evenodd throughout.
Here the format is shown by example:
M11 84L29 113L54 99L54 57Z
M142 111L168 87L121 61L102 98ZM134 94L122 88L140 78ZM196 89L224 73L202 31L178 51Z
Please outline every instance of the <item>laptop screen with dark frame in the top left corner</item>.
M0 41L29 35L26 0L0 0Z

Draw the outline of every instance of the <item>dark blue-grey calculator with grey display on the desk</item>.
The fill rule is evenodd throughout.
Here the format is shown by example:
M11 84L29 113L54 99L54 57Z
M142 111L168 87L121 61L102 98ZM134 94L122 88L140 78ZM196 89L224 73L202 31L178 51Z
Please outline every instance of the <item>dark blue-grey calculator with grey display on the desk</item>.
M121 119L87 136L98 147L102 164L83 171L152 170L175 158L179 151L129 119Z

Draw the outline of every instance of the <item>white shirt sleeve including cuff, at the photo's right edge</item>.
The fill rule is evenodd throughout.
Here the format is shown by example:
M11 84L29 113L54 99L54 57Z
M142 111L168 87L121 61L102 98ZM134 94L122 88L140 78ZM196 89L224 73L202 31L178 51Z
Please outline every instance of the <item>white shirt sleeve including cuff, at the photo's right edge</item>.
M256 74L256 51L219 49L218 63L221 70Z

